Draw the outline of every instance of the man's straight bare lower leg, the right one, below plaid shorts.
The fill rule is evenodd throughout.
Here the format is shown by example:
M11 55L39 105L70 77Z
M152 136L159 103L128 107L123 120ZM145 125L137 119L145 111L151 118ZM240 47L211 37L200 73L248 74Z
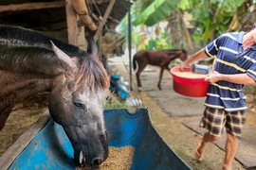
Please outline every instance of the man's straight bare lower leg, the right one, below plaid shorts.
M231 165L234 161L234 157L238 148L238 138L229 133L227 135L227 142L225 146L226 155L223 163L223 170L231 170Z

